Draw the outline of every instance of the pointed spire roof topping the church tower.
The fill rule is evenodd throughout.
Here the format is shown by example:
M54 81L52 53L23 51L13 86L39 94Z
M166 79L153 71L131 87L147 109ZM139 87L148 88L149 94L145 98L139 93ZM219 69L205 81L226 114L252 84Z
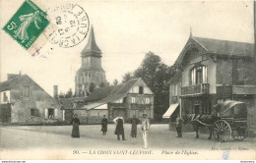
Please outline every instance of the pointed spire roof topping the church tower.
M88 43L86 47L82 50L81 56L82 57L88 57L88 56L102 57L101 54L102 54L101 50L96 45L95 31L94 31L94 27L92 26Z

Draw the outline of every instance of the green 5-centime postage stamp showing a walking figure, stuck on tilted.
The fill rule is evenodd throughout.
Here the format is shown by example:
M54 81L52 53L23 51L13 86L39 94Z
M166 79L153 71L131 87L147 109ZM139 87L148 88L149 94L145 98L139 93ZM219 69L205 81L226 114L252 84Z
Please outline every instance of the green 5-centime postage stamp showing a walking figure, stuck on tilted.
M28 50L49 25L46 16L31 0L26 0L3 29Z

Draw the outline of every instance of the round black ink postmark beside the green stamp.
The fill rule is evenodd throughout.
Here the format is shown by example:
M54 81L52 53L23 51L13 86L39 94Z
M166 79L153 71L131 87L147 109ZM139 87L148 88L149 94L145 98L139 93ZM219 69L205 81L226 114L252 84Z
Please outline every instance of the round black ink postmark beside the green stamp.
M56 30L50 36L51 43L60 47L73 47L82 42L89 31L87 13L77 4L65 4L54 8L50 14Z

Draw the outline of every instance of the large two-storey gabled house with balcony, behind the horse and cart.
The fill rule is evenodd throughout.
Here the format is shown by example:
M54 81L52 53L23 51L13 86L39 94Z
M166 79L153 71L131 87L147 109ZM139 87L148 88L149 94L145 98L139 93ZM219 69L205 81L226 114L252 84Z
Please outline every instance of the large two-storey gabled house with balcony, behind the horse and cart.
M249 130L255 130L254 44L190 35L175 62L181 71L181 114L211 114L225 100L247 104ZM171 85L172 86L172 85ZM174 90L171 89L172 95Z

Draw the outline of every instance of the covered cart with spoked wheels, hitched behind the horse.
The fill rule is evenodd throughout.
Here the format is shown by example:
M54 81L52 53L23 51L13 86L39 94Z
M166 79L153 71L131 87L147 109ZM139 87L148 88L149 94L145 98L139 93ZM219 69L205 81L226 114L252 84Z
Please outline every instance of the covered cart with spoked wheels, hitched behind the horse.
M224 101L219 108L220 118L213 124L213 136L220 141L229 137L242 140L247 136L247 108L239 101Z

